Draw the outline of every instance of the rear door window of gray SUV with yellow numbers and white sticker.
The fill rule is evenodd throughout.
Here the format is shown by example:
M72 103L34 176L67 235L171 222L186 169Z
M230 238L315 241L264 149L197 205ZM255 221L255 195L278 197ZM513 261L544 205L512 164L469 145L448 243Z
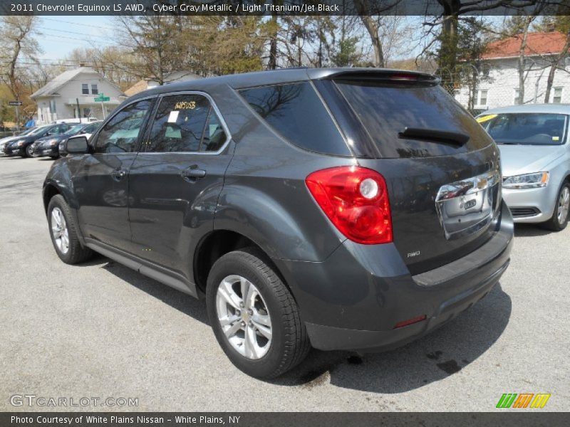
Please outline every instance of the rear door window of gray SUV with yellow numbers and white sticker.
M207 97L163 97L152 122L147 152L216 152L227 135Z

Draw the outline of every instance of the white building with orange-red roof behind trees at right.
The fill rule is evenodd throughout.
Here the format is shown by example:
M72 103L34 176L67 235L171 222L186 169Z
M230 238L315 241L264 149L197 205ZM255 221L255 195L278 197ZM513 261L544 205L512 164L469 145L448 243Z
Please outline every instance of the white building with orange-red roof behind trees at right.
M525 50L524 104L544 103L550 59L564 48L566 36L555 31L529 33ZM519 103L519 72L517 61L521 48L520 35L489 43L482 59L475 93L475 109L488 110ZM549 102L570 103L570 61L561 60L556 70ZM465 107L469 103L469 90L461 88L456 99Z

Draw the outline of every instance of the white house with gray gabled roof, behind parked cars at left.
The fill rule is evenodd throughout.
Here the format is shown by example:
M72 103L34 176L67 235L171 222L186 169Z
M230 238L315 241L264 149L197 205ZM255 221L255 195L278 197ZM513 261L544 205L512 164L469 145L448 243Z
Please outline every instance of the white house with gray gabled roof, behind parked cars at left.
M101 94L110 98L103 105L95 101ZM31 98L38 107L36 123L45 125L72 117L103 119L123 102L125 94L93 68L81 66L61 73Z

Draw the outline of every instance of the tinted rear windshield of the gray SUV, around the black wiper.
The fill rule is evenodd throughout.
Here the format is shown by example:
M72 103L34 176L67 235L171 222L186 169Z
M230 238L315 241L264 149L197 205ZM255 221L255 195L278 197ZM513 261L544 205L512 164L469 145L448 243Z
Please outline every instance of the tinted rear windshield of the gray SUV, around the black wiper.
M487 147L492 139L475 119L439 85L336 80L336 86L382 157L433 157ZM464 144L410 139L405 128L458 132Z

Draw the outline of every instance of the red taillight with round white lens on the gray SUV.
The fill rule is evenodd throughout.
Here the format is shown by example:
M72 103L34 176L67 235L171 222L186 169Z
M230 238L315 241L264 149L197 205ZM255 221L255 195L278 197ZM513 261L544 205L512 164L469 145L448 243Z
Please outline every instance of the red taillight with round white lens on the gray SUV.
M351 241L365 245L392 241L388 188L378 172L333 167L313 172L305 182L328 219Z

